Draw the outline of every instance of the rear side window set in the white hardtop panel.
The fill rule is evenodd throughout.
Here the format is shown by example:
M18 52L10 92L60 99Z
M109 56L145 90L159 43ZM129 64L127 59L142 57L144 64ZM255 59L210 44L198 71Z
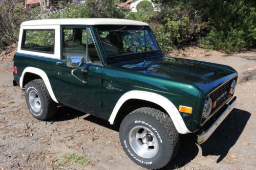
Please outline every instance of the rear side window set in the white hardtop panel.
M54 54L54 30L24 30L22 50Z

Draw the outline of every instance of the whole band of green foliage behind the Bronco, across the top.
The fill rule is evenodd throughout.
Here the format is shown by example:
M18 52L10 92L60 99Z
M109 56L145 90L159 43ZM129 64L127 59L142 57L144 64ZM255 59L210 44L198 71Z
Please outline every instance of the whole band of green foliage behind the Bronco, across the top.
M19 25L25 20L44 18L124 18L150 23L164 53L173 46L199 44L204 48L239 52L256 46L256 2L253 0L155 0L131 12L115 5L124 0L87 0L69 3L50 0L50 8L24 10L18 0L0 1L0 51L17 42Z

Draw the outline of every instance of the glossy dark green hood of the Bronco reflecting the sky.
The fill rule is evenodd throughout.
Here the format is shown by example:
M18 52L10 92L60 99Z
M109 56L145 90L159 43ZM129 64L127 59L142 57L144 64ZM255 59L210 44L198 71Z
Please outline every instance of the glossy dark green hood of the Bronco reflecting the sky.
M113 63L111 66L148 76L193 84L205 94L237 75L236 70L226 65L173 57L123 61Z

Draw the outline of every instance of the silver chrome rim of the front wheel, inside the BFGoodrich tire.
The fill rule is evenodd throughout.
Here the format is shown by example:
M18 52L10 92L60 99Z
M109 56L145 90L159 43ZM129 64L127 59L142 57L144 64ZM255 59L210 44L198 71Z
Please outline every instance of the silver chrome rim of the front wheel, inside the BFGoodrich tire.
M146 159L156 156L159 150L157 137L143 126L136 126L130 131L129 143L137 155Z

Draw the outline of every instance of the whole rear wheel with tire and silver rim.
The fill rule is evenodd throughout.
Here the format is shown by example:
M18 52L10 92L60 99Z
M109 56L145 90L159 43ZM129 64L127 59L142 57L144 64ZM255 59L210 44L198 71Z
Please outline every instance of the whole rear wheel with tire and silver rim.
M38 120L49 120L56 114L57 104L52 100L43 80L26 85L25 98L30 113Z

